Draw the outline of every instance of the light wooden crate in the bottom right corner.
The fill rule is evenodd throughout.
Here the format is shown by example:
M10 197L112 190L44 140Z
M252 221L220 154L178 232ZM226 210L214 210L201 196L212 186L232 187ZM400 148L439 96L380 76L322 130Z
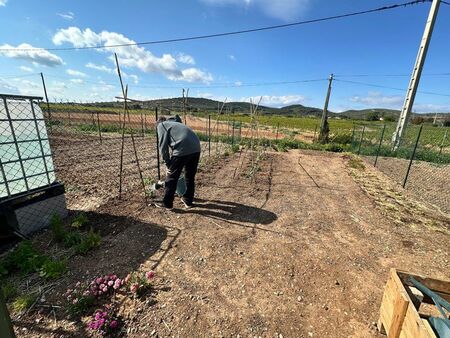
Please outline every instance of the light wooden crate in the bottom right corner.
M433 304L426 296L414 294L409 277L450 301L450 281L442 281L391 269L380 308L378 330L389 338L436 338L427 316L419 312L421 303Z

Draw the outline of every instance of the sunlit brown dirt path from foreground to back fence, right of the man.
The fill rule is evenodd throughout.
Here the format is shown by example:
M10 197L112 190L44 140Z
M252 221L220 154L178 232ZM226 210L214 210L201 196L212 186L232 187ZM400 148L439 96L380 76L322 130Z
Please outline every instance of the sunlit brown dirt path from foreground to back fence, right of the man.
M271 154L252 185L236 156L201 175L198 208L141 213L176 235L156 260L170 292L129 336L377 336L388 269L445 277L449 237L385 217L346 162Z

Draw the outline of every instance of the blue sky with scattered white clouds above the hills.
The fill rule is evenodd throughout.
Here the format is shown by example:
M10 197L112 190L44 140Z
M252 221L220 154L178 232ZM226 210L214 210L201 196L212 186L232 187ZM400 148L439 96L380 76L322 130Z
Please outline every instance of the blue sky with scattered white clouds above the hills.
M398 1L401 2L401 1ZM170 39L277 25L396 3L395 0L0 0L0 92L102 101L118 95L112 50L2 51L15 47L80 47ZM123 47L118 52L129 96L190 96L300 103L322 107L326 79L406 89L430 4L286 29L181 43ZM416 112L450 111L450 6L441 5ZM369 77L350 75L369 74ZM378 76L378 75L406 76ZM230 86L223 88L223 86ZM400 108L404 90L335 81L330 110Z

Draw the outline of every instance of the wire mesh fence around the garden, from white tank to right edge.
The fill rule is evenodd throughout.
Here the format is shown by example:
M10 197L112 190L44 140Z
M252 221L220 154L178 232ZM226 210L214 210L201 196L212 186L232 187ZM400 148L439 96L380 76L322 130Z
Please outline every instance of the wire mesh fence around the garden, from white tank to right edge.
M123 194L145 200L151 185L164 176L163 165L158 170L156 120L158 114L175 112L157 112L144 102L130 103L127 110L120 102L46 103L15 98L7 104L14 113L8 116L0 105L0 199L16 190L28 192L61 182L69 209L92 210ZM202 162L240 146L285 150L311 144L316 149L313 142L318 138L317 122L302 129L232 114L188 115L183 120L202 141ZM350 128L332 128L331 143L317 144L317 149L360 154L416 196L450 211L448 127L410 125L398 149L392 149L393 123ZM65 204L44 208L49 215L51 208L65 208ZM29 210L35 213L30 219L42 213L42 208Z

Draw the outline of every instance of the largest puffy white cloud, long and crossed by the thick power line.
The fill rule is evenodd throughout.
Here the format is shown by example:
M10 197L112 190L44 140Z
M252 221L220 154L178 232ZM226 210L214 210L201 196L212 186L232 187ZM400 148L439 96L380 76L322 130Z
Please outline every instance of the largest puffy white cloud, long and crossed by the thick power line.
M111 46L135 43L135 41L128 39L119 33L108 31L95 33L89 28L82 31L78 27L60 29L53 36L52 40L56 45L69 42L74 47L92 47L96 45ZM160 73L171 80L208 83L213 79L210 73L197 68L180 69L177 65L177 60L170 54L163 54L161 57L157 57L145 48L136 45L113 47L99 51L107 53L116 52L120 65L124 68L134 67L146 73ZM111 61L114 61L112 55L110 59Z

